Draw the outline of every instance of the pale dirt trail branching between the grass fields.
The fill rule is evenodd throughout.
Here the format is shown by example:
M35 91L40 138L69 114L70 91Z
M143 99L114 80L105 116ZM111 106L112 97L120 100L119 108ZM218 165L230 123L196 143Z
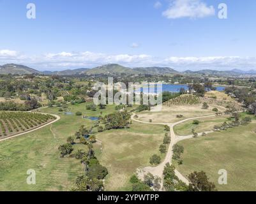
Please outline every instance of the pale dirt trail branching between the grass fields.
M158 176L158 177L162 178L161 187L163 187L163 170L164 170L164 167L167 163L172 164L172 154L173 154L172 149L173 149L174 145L177 142L180 142L182 140L187 140L187 139L193 138L193 135L177 136L174 133L174 126L177 126L178 124L181 124L181 123L186 122L188 120L203 119L203 118L207 118L207 117L216 117L216 115L207 115L207 116L202 116L202 117L192 117L190 119L184 119L184 120L181 120L179 122L174 122L174 123L143 122L141 120L135 119L134 117L135 117L135 113L133 113L133 115L132 115L132 120L134 120L136 122L141 122L141 123L144 123L144 124L159 124L159 125L164 125L164 126L167 125L167 126L170 127L171 142L170 142L170 145L169 145L169 149L167 150L167 154L165 156L164 161L161 164L159 164L158 166L154 166L154 167L153 166L147 166L147 167L142 168L141 170L137 171L139 179L142 179L142 180L144 179L144 175L146 175L147 173L151 173L154 176ZM206 133L208 134L208 133L212 133L212 132L213 131L208 131ZM202 133L200 133L198 136L202 136ZM181 173L179 173L179 171L175 170L175 174L179 178L179 180L182 180L187 185L189 184L188 179L186 179L186 177L184 177Z

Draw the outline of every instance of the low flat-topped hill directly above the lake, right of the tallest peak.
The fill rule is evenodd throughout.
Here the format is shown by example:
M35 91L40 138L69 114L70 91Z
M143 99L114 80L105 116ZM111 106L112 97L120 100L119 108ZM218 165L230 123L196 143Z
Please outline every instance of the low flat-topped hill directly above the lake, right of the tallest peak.
M149 68L134 68L133 70L139 71L140 73L149 74L149 75L167 75L167 74L178 74L179 71L176 71L168 67L158 67L153 66Z

